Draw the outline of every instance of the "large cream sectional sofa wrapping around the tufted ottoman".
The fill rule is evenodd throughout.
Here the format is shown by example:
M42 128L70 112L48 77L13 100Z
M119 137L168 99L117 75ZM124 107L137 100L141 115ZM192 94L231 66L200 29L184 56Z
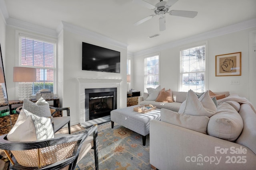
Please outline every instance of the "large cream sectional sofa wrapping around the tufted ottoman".
M150 164L159 170L255 170L256 110L245 98L225 94L214 115L200 117L205 132L200 119L176 115L187 92L172 92L176 102L162 104L140 96L139 104L161 109L161 120L150 121Z

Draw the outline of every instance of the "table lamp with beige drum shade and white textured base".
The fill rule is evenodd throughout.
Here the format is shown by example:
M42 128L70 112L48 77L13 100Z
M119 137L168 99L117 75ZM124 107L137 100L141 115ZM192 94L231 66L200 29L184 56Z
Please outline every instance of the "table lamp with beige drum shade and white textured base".
M31 100L32 84L36 82L36 68L13 67L13 82L19 82L19 100Z

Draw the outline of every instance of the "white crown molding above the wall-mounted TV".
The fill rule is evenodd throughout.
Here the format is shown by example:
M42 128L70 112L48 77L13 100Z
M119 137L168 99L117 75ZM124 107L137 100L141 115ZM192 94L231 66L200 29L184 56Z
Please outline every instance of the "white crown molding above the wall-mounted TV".
M82 27L79 27L79 26L76 26L76 25L72 25L72 24L67 23L65 21L62 21L62 23L58 26L58 28L57 28L58 34L60 33L60 31L62 29L73 32L73 33L77 33L77 34L80 34L80 35L84 35L84 36L87 36L87 37L90 37L90 38L93 38L93 39L97 39L99 41L103 41L105 43L109 43L111 45L121 47L123 49L127 49L127 46L128 46L125 43L121 43L119 41L116 41L114 39L106 37L105 35L102 35L100 33L96 33L94 31L90 31L88 29L85 29L85 28L82 28Z

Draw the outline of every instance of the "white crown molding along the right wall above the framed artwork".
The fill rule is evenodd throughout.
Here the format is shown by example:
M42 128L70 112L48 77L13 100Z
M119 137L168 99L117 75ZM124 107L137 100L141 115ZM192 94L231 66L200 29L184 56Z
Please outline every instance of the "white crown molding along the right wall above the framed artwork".
M201 33L201 34L198 34L198 35L194 35L192 37L180 39L180 40L177 40L177 41L172 41L172 42L169 42L169 43L166 43L166 44L163 44L163 45L152 47L150 49L145 49L145 50L142 50L142 51L138 51L136 53L133 53L133 56L136 57L136 56L141 56L141 55L147 55L149 53L155 53L157 51L161 51L161 50L164 50L164 49L170 49L170 48L173 48L173 47L178 47L180 45L193 43L195 41L203 41L203 40L206 40L206 39L209 39L209 38L212 38L212 37L218 37L220 35L225 35L225 34L237 32L237 31L241 31L243 29L249 29L249 28L252 28L252 27L256 27L256 18L251 19L251 20L247 20L247 21L243 21L243 22L240 22L240 23L236 23L236 24L233 24L233 25L229 25L229 26L226 26L226 27L222 27L222 28L219 28L219 29L215 29L215 30L212 30L212 31L208 31L208 32L205 32L205 33Z

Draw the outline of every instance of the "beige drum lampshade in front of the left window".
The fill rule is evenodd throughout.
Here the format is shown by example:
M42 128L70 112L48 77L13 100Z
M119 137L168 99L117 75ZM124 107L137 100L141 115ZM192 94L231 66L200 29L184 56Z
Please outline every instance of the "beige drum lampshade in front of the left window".
M36 82L36 68L13 67L13 82Z

